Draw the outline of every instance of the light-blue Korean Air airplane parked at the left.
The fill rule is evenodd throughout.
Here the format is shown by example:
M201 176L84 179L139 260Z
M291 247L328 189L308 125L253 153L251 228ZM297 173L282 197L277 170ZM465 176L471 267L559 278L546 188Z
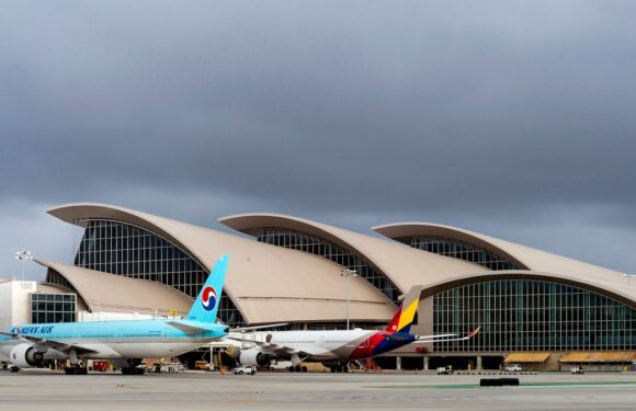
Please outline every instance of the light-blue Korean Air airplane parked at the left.
M182 320L127 320L25 324L0 332L0 352L12 370L38 367L45 359L70 359L66 374L87 374L82 359L111 359L123 374L144 374L141 358L173 357L227 335L215 323L228 266L223 255Z

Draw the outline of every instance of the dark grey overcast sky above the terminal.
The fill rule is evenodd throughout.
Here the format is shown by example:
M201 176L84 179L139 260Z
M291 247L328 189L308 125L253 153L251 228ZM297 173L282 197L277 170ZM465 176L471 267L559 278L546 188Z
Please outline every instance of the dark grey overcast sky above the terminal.
M0 276L71 262L70 202L441 222L636 273L634 1L0 5Z

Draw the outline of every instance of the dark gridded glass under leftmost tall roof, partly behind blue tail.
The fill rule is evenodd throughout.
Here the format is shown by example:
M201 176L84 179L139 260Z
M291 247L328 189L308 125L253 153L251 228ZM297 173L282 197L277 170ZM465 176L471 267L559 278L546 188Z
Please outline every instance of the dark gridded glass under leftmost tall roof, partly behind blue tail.
M209 272L170 241L121 221L89 220L75 265L162 283L196 298ZM224 294L218 317L230 327L245 320Z

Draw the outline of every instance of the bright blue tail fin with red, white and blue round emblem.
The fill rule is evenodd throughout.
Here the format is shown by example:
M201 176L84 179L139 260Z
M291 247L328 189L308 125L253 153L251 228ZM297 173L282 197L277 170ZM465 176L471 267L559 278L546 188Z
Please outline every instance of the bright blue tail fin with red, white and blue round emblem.
M207 281L203 285L185 319L202 322L216 321L216 312L220 305L228 261L229 255L222 255L216 264L214 264L212 273L209 273Z

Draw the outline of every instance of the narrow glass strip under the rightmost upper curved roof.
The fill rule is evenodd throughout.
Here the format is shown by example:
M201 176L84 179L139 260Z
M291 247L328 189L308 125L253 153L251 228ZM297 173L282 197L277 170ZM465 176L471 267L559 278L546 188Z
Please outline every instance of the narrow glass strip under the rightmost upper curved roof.
M440 255L469 261L489 270L524 270L509 260L477 246L442 237L413 237L410 246L414 249Z

